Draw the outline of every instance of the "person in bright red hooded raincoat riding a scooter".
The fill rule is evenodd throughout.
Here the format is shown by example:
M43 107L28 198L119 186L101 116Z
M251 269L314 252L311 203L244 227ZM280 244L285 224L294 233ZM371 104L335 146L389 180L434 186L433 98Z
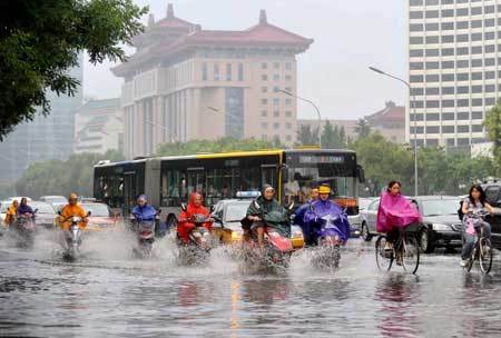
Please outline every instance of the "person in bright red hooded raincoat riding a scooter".
M203 206L203 197L198 192L193 192L186 210L181 210L177 225L177 238L181 245L189 243L189 232L195 228L193 217L195 215L203 215L206 218L206 222L203 225L208 231L213 230L214 219L210 217L207 208Z

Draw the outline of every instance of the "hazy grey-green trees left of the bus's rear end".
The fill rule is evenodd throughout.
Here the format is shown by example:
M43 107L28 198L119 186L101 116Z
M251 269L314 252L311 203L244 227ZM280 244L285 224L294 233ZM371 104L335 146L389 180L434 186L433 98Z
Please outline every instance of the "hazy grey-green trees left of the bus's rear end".
M116 150L105 155L72 155L68 160L49 160L28 167L16 182L17 193L38 198L43 195L68 196L77 192L92 196L94 165L100 160L120 161L124 156Z

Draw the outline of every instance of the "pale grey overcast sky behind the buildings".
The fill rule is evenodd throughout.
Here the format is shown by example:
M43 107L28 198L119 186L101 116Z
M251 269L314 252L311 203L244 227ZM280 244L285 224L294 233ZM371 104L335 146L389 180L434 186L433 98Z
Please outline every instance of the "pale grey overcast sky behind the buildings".
M367 69L375 66L405 76L402 0L136 0L149 6L155 20L165 17L168 2L176 17L204 29L246 29L265 9L268 22L314 39L298 57L297 93L315 101L323 118L354 119L383 108L386 100L404 102L400 82ZM119 96L121 80L109 67L86 62L86 97ZM298 116L315 118L312 108L303 105Z

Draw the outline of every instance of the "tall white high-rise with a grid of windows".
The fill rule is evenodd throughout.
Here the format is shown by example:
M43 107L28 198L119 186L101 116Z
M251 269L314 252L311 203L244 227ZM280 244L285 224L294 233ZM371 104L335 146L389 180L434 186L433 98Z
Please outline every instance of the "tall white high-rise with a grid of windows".
M485 141L485 111L501 80L501 1L405 0L409 80L406 140L468 147ZM414 125L416 129L414 130Z

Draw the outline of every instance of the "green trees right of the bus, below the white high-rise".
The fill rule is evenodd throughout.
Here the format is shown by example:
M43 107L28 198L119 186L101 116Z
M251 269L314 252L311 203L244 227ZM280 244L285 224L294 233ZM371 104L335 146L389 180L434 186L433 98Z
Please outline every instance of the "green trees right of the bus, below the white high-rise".
M414 193L414 152L387 141L379 132L358 138L351 147L365 170L366 195L377 196L391 180L403 183L403 192ZM464 152L440 147L420 148L418 153L420 195L461 195L468 187L495 173L490 158L471 158Z

